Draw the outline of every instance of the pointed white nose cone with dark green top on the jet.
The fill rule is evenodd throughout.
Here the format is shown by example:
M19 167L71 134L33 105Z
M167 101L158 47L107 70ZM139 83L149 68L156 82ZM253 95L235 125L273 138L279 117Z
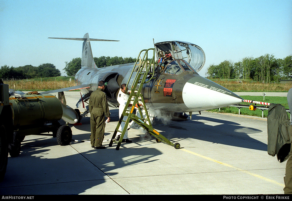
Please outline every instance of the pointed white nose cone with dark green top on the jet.
M226 107L241 100L235 93L201 76L191 78L183 87L183 101L190 111Z

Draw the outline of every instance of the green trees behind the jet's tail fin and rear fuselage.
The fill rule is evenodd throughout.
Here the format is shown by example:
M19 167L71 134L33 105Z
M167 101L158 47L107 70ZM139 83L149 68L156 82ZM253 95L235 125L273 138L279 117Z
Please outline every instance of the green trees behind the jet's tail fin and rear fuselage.
M122 58L122 57L118 57L118 56L115 56L115 57L101 56L101 57L94 57L93 60L95 62L96 67L102 68L102 67L110 66L110 65L133 63L133 62L136 62L137 59L132 58L132 57ZM74 58L70 62L65 62L65 63L66 63L66 67L63 70L65 70L65 72L68 76L74 75L81 68L81 58L80 57Z

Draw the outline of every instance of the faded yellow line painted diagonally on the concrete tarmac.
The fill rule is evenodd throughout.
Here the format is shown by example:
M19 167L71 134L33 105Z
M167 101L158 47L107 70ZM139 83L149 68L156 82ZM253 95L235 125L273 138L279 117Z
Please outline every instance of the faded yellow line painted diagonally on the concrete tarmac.
M192 151L186 150L186 149L180 149L180 150L183 150L183 151L185 151L185 152L187 152L187 153L190 153L190 154L192 154L192 155L196 155L196 156L198 156L198 157L204 158L204 159L206 159L206 160L209 160L209 161L212 161L212 162L219 163L219 164L224 165L224 166L226 166L226 167L230 167L230 168L233 168L233 169L235 169L235 170L245 172L246 174L249 174L249 175L251 175L251 176L257 177L257 178L259 178L259 179L263 179L263 180L265 180L265 181L268 181L268 182L271 182L271 183L277 184L277 185L279 185L279 186L285 187L285 185L284 185L283 183L279 183L279 182L274 181L274 180L272 180L272 179L268 179L268 178L265 178L265 177L260 176L260 175L258 175L258 174L251 173L251 172L249 172L249 171L247 171L247 170L243 170L243 169L240 169L240 168L238 168L238 167L234 167L234 166L232 166L232 165L230 165L230 164L220 162L220 161L218 161L218 160L215 160L215 159L212 159L212 158L209 158L209 157L203 156L203 155L201 155L201 154L198 154L198 153L195 153L195 152L192 152Z

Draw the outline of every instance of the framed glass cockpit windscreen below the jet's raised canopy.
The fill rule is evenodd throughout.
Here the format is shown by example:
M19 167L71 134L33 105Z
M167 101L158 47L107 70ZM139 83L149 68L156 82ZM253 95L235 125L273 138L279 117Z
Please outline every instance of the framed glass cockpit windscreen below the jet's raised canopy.
M195 72L197 74L197 72L183 59L174 59L166 65L161 64L160 67L160 72L166 74L179 75L185 71Z

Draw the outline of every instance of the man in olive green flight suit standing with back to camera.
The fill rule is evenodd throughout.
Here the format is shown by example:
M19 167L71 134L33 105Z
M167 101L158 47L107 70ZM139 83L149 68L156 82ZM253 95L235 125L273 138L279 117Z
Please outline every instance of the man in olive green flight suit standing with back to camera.
M110 121L109 107L105 92L103 92L105 86L107 86L107 82L98 82L98 88L91 93L89 98L90 142L91 147L95 149L105 149L102 146L105 136L105 117L107 117L107 122Z

